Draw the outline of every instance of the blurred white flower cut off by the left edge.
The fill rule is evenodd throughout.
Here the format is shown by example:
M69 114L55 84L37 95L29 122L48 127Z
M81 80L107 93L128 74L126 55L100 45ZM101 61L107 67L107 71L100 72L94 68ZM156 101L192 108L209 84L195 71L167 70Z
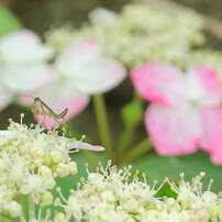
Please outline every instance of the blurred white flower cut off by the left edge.
M46 63L52 56L53 48L32 31L18 31L0 38L0 95L4 101L0 109L12 96L33 93L44 87L52 76Z

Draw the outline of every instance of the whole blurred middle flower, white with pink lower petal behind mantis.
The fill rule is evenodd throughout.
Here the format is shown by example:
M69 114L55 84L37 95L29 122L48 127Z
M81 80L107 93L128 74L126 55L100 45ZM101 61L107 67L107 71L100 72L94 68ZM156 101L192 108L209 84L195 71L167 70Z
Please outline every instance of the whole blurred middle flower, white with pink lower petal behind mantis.
M68 108L66 120L86 108L90 95L109 91L126 76L124 66L107 58L100 45L91 40L62 52L55 60L54 69L51 85L37 96L56 113ZM43 120L40 115L37 119ZM56 122L46 118L44 124L53 126Z

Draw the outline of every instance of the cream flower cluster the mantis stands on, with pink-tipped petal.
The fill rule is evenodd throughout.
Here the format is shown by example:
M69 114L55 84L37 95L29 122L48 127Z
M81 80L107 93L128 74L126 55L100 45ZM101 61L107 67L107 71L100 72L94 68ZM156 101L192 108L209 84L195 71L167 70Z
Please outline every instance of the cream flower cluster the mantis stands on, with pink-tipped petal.
M74 148L103 151L82 142L59 136L56 129L44 132L41 123L27 125L10 120L7 131L0 131L0 214L24 220L21 197L29 195L33 204L53 204L51 190L56 177L77 174L69 153ZM1 219L0 219L1 220ZM34 220L34 219L33 219Z

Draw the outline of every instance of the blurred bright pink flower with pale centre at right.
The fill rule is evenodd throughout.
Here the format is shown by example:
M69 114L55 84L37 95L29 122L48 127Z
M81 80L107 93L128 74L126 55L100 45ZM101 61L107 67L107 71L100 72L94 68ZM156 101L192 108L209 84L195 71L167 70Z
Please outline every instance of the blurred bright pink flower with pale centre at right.
M153 102L145 125L158 154L182 155L200 146L222 164L222 90L214 70L197 65L182 74L168 64L148 63L131 79Z

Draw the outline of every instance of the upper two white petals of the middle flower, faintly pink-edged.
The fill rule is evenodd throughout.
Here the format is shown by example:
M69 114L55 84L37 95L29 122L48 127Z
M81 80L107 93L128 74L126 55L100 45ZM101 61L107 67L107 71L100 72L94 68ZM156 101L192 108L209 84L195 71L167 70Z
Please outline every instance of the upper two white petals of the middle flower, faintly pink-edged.
M90 40L64 51L55 66L70 87L85 93L108 91L126 76L124 66L103 57L100 45Z

